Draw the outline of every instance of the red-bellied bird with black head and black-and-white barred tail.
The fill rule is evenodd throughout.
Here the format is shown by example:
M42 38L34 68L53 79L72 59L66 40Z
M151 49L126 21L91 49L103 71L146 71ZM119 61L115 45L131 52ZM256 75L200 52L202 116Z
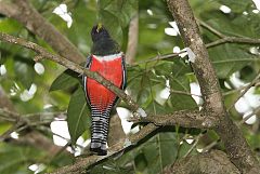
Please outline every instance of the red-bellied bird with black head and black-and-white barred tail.
M101 23L91 30L93 45L87 58L86 68L99 72L117 88L126 89L125 54L119 44L112 38ZM118 96L96 82L83 76L83 86L87 102L91 108L91 143L90 151L98 156L107 155L107 135L112 109L118 102Z

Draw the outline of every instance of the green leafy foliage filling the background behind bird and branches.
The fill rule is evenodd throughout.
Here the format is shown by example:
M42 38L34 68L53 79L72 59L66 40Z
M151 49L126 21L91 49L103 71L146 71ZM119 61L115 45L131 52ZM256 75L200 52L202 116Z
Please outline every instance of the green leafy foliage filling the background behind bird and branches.
M112 36L126 51L129 22L133 14L139 11L139 45L134 59L136 64L128 66L127 90L129 94L142 108L151 113L198 109L197 104L190 95L174 93L174 91L190 93L190 83L196 82L191 66L184 58L172 57L165 61L145 62L157 55L172 53L173 46L184 48L180 36L172 37L165 34L165 28L171 27L169 22L173 21L165 1L104 0L96 3L94 0L31 0L30 2L44 18L51 22L86 56L90 53L92 44L89 34L98 21L105 24ZM68 11L72 12L74 19L72 28L67 28L66 23L52 13L53 9L61 3L66 3ZM223 35L259 38L260 13L252 12L252 10L256 10L252 1L192 0L190 3L198 21L207 23ZM231 13L225 14L220 11L219 8L222 4L229 6L232 10ZM151 10L153 15L148 14L147 10ZM247 14L245 15L244 12L247 12ZM1 16L0 30L26 38L52 51L43 40L26 30L14 19ZM216 35L204 27L200 27L200 31L206 43L218 39ZM90 136L90 123L87 121L89 120L89 110L84 105L81 85L75 78L77 75L72 76L70 72L67 72L56 79L65 69L49 61L41 62L44 66L44 73L39 75L34 68L35 62L32 57L35 54L31 51L2 42L0 49L0 64L6 68L6 73L0 76L0 84L11 98L15 110L27 116L27 113L36 112L61 112L68 108L68 115L70 116L67 119L69 132L70 134L74 132L72 140L76 142L77 137L86 129L83 138L88 139ZM224 43L210 48L208 51L218 73L225 105L229 108L239 95L239 89L237 90L232 83L230 77L234 72L236 75L238 72L239 79L245 83L252 81L259 73L259 48L250 44ZM166 81L169 81L171 93L167 99L164 99L159 97L159 93L166 88ZM27 102L22 101L21 94L25 90L29 90L32 83L37 85L34 97ZM230 88L226 88L224 83L229 84ZM259 97L259 85L256 85L253 93L256 97ZM119 106L126 107L123 103L119 104ZM253 110L256 106L259 107L259 104L251 104L250 106L250 109ZM75 119L78 121L78 112L82 109L82 120L79 120L79 126L75 128ZM242 120L243 113L235 108L231 110L231 113L235 122ZM11 126L11 123L1 120L0 134ZM259 112L253 124L244 123L240 128L252 150L258 152L260 149ZM52 139L53 134L49 124L37 124L31 129L38 130ZM21 131L18 133L20 138L23 138L27 131ZM191 138L195 139L195 147L186 140ZM188 155L195 155L211 143L216 143L213 148L224 150L218 139L219 137L213 131L205 133L204 130L182 129L179 126L161 128L140 142L135 148L128 149L122 156L109 158L105 162L95 165L90 173L160 173L167 164L171 164L177 159L186 156L190 149L192 151L188 151ZM61 152L52 158L47 157L48 151L46 150L6 140L1 142L0 173L34 173L28 169L31 164L40 166L43 170L41 172L50 172L75 160L75 157L66 152Z

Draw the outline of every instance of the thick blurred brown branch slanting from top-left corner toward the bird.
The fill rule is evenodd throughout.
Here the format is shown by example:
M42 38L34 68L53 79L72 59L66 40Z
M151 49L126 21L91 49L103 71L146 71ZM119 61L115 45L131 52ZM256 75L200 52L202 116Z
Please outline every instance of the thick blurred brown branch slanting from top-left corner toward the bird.
M84 56L52 24L46 21L27 0L14 3L0 1L0 13L22 23L29 31L48 42L63 57L81 63Z

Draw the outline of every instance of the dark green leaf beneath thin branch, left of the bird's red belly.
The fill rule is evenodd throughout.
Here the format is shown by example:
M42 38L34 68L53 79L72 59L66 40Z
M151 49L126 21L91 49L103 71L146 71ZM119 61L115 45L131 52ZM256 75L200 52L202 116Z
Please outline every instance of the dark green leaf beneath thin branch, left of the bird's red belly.
M51 84L50 92L56 90L65 90L70 86L75 86L79 83L78 73L67 69L62 72Z

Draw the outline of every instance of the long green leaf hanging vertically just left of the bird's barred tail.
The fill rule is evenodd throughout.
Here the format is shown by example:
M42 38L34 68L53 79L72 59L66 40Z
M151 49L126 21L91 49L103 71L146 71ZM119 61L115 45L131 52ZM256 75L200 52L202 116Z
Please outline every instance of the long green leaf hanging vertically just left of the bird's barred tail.
M90 109L81 86L70 97L67 115L68 132L72 143L75 144L77 138L91 125Z

